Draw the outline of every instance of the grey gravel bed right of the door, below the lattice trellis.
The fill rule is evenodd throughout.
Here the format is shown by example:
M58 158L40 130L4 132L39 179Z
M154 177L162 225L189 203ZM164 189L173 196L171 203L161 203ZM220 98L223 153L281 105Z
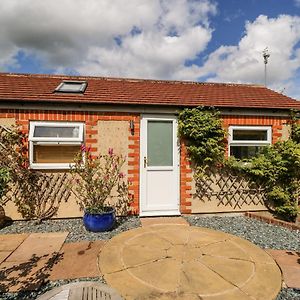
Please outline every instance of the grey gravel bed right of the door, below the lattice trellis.
M267 224L243 216L188 216L185 218L193 226L202 226L234 234L263 249L300 251L299 230L289 230L282 226Z

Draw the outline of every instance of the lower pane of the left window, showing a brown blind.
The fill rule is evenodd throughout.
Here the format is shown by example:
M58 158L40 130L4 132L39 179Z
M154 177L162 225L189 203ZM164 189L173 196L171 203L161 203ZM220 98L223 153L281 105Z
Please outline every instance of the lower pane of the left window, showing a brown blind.
M34 145L34 163L71 163L80 151L80 145Z

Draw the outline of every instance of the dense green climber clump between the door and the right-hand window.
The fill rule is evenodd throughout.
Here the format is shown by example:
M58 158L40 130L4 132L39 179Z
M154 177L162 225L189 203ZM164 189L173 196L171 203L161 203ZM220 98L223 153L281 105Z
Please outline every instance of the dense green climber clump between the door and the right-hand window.
M225 131L214 108L186 108L179 113L178 132L193 163L200 168L224 160Z

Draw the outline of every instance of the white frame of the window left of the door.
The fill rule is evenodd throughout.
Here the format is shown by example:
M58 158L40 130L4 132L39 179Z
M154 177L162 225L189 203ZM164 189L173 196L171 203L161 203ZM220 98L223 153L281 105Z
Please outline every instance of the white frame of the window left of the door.
M79 127L78 137L34 137L36 126L45 127ZM84 123L81 122L47 122L47 121L32 121L29 128L29 166L31 169L70 169L73 163L35 163L33 162L34 145L82 145L84 142Z

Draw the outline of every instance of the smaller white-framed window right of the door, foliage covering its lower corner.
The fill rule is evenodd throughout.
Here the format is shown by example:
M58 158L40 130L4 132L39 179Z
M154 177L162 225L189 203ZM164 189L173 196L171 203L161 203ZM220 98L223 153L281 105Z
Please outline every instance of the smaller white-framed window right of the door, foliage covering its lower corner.
M253 157L271 144L271 134L270 126L230 126L229 155L238 159Z

